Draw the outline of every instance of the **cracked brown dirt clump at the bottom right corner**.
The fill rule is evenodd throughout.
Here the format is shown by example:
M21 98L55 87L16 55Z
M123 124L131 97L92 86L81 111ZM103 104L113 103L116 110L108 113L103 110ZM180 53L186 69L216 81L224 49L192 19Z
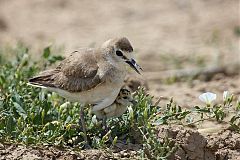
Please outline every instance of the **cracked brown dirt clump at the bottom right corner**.
M230 130L203 136L182 126L161 126L160 138L171 138L179 145L170 159L212 160L240 158L240 134Z

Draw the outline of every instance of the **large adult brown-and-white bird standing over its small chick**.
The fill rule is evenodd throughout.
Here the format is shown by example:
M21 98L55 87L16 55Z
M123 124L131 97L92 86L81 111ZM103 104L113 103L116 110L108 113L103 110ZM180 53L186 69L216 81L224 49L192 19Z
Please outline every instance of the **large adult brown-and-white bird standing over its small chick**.
M40 72L29 85L56 92L70 102L79 102L80 124L88 144L83 107L94 104L92 111L111 105L130 66L138 74L142 68L133 58L133 47L126 37L109 39L97 48L74 51L54 69Z

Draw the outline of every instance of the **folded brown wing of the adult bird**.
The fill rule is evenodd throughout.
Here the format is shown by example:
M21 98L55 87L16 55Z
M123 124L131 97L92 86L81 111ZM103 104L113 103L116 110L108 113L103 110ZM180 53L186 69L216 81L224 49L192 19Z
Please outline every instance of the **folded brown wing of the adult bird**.
M69 92L90 90L105 82L93 50L73 53L55 69L47 70L29 80L30 84L53 87Z

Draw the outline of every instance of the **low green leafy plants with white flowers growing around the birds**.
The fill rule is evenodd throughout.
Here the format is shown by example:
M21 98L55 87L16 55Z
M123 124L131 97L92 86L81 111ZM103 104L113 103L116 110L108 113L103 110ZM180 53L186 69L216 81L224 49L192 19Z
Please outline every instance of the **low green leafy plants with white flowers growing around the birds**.
M29 77L63 57L52 55L50 47L43 50L38 62L31 59L26 47L17 46L8 50L15 54L15 59L0 61L0 141L82 148L83 133L78 125L80 104L67 102L55 93L27 85ZM209 94L206 96L203 106L192 109L183 109L173 98L166 105L158 106L152 103L153 97L140 88L134 96L136 105L129 106L121 117L107 120L109 132L105 135L101 122L85 108L90 145L106 149L114 148L118 141L138 143L142 145L139 151L142 159L167 159L177 150L178 144L167 137L157 137L159 126L195 125L205 120L221 123L229 112L234 113L229 124L240 132L239 100L234 108L235 97L228 92L224 92L222 104L212 103L216 99L214 94L210 94L210 99Z

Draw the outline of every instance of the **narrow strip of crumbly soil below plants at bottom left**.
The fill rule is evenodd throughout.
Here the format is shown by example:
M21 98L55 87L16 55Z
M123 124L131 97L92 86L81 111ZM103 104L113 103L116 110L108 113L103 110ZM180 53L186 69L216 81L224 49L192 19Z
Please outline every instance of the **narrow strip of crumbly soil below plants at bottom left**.
M24 145L2 145L0 159L24 159L24 160L107 160L107 159L129 159L136 157L136 151L123 150L112 153L107 150L82 150L70 151L54 147L26 147Z

